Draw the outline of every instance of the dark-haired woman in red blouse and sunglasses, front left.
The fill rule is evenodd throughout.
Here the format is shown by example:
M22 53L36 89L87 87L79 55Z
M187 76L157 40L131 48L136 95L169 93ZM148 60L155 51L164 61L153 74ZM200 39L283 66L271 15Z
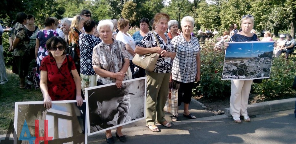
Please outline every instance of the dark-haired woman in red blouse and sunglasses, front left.
M71 56L66 56L66 42L61 37L52 37L46 42L49 55L41 61L40 89L44 107L51 108L51 101L75 100L83 104L81 82Z

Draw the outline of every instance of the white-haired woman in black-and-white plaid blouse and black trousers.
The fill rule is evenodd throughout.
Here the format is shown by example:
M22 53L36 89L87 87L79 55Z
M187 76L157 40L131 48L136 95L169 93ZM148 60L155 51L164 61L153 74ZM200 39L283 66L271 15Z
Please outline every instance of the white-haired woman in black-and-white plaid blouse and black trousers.
M183 116L196 118L189 113L192 88L194 82L200 80L200 47L198 39L191 36L194 26L194 19L186 16L181 21L182 34L172 39L172 45L176 52L173 60L172 76L170 82L175 80L180 84L178 92L178 106L184 102ZM177 121L178 116L173 116L172 121Z

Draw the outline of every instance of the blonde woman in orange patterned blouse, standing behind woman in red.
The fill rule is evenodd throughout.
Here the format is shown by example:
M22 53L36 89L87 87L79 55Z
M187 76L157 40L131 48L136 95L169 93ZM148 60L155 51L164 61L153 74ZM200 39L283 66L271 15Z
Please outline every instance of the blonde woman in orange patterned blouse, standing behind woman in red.
M75 66L77 68L78 74L80 74L80 49L79 49L79 35L81 35L80 29L83 28L84 19L80 15L76 15L71 23L71 28L68 34L68 44L74 47L79 58L73 58L75 61Z

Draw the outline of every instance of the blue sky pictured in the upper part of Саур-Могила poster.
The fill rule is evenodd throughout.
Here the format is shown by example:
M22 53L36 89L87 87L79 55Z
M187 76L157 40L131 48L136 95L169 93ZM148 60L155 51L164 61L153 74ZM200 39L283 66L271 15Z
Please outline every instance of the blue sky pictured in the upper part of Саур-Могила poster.
M264 52L273 51L271 42L232 42L226 49L225 57L257 57Z

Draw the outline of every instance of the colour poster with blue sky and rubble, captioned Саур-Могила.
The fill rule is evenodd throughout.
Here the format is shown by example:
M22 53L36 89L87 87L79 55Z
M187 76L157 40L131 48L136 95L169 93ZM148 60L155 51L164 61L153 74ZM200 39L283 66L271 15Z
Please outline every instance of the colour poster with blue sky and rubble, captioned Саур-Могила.
M225 52L222 80L269 78L273 41L229 42Z

